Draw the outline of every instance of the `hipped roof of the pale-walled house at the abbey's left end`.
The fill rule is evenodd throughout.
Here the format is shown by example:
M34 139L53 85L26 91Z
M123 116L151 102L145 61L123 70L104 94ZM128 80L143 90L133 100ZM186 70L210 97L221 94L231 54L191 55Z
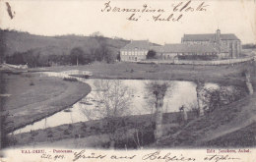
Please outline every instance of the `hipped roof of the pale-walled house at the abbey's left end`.
M121 48L121 50L133 50L137 48L138 50L149 50L153 43L149 40L132 40L129 44Z

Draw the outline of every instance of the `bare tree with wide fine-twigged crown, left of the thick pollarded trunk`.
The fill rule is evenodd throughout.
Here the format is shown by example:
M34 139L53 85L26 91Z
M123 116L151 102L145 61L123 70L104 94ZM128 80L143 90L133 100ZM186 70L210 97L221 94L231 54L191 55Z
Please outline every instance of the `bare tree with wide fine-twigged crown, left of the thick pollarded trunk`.
M105 124L110 147L113 148L118 135L117 130L123 124L121 116L129 114L131 95L128 87L118 80L95 81L96 107L83 109L89 120L101 119L101 126Z

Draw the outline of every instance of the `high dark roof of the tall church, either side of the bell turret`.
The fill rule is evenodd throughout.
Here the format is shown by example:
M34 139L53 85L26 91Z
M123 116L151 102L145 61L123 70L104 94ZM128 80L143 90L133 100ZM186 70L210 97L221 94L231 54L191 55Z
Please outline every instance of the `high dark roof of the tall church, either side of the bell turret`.
M183 41L209 41L215 38L215 33L204 33L204 34L184 34ZM221 34L222 40L239 40L233 33Z

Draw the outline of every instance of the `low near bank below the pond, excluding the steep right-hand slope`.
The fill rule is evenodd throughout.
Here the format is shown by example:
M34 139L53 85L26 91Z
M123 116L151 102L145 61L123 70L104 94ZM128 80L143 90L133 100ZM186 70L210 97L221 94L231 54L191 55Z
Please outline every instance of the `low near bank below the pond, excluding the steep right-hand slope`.
M195 118L195 114L192 112L188 113L188 121ZM118 120L121 121L122 125L118 127L118 130L122 135L129 135L124 141L119 141L116 147L124 148L124 144L128 148L136 148L136 142L133 140L133 134L135 129L144 131L144 144L147 142L154 142L154 121L155 116L153 114L146 115L133 115L120 117ZM166 128L164 134L174 133L182 125L179 124L180 113L164 113L163 114L163 126ZM67 146L77 147L95 147L107 148L109 137L107 135L108 129L103 126L101 120L80 122L74 124L61 125L54 128L47 128L44 130L36 130L29 133L13 135L11 138L15 143L15 147L19 146ZM122 133L126 130L126 133ZM90 140L88 140L90 139ZM92 140L94 139L94 140ZM74 143L75 141L75 143ZM81 141L77 142L77 141ZM71 143L70 143L71 142Z

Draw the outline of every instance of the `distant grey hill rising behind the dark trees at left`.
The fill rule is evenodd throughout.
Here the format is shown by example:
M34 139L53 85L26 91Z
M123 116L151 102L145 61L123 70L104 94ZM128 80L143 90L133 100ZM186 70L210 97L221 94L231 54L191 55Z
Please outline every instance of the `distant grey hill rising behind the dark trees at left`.
M130 41L103 37L110 51L116 55L120 48ZM99 40L96 37L80 35L41 36L29 32L0 29L1 53L6 56L16 52L22 53L32 50L40 55L65 55L75 47L81 47L90 53L90 48L97 47Z

